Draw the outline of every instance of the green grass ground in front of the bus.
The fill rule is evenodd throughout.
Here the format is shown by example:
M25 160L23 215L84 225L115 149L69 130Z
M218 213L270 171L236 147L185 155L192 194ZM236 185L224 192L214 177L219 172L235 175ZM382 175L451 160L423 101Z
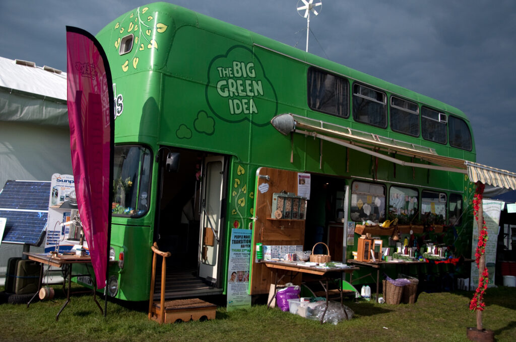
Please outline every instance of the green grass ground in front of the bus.
M2 341L467 341L466 328L475 327L468 306L471 292L421 293L415 304L346 301L355 313L350 321L318 321L267 309L227 312L219 302L215 320L164 324L147 319L146 302L108 301L107 317L89 295L71 299L59 321L55 315L66 298L59 286L53 301L0 305ZM103 300L101 298L101 300ZM223 299L222 299L223 300ZM101 302L104 307L104 302ZM483 323L498 341L516 340L516 288L490 288Z

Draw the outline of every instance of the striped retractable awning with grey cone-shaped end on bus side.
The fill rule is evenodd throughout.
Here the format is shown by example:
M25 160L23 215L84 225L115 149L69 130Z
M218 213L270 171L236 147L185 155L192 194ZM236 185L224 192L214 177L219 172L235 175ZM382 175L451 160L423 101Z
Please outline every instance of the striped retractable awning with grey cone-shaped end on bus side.
M516 173L464 159L440 156L433 148L410 144L378 134L367 133L292 113L273 117L271 124L284 135L291 132L310 135L314 138L358 150L398 165L458 172L467 174L472 182L480 181L484 184L516 190ZM385 155L382 152L414 157L430 164L406 162Z

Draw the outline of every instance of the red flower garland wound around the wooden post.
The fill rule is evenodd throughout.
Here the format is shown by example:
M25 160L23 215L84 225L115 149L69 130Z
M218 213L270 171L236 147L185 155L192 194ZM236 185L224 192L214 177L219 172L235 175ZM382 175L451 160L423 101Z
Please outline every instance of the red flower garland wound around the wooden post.
M475 215L475 219L478 221L478 210L482 205L482 193L483 193L484 185L480 184L478 186L477 192L475 193L475 197L473 199L473 214ZM486 242L487 242L487 226L486 220L482 222L482 229L480 230L480 235L478 236L478 244L477 249L475 251L475 261L477 263L477 268L480 266L480 257L486 252ZM471 311L482 311L486 306L486 303L483 302L483 295L486 292L487 285L489 282L489 272L487 267L484 267L482 271L482 276L479 277L478 287L475 290L475 294L473 295L473 299L470 302L470 310Z

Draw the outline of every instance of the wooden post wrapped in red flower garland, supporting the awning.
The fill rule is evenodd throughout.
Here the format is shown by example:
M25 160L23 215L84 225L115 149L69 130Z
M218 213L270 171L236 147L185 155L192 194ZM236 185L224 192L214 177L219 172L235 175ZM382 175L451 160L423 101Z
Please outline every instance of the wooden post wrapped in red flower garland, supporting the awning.
M488 238L486 221L483 219L482 197L485 185L477 182L477 189L475 191L475 198L473 199L473 213L477 220L478 227L478 244L475 251L475 261L478 267L478 287L470 302L470 310L476 311L477 315L477 330L482 330L482 311L486 304L483 302L483 296L486 292L489 282L488 269L486 267L486 242Z

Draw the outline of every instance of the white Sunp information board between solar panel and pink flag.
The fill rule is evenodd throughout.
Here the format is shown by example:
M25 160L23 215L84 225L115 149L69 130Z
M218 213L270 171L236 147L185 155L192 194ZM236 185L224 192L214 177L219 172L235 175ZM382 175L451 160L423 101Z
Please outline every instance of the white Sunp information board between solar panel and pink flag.
M49 218L46 228L45 252L69 252L80 240L80 226L61 226L78 216L77 203L70 202L70 193L75 190L72 175L52 175L49 198ZM84 242L86 247L86 242Z

